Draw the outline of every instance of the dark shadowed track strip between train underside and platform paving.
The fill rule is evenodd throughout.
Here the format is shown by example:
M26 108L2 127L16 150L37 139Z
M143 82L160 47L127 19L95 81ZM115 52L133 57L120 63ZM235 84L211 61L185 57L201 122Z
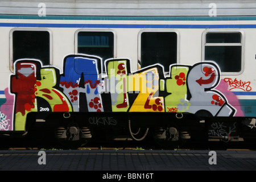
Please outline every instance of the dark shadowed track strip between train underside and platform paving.
M104 140L92 139L84 147L64 147L54 138L3 138L0 150L256 150L256 142L186 142L183 146L164 148L154 140L136 142L129 139Z

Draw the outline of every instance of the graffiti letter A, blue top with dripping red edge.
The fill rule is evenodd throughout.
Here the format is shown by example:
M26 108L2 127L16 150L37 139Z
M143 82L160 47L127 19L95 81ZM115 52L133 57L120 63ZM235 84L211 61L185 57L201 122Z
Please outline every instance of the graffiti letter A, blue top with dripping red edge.
M104 111L102 107L102 87L100 59L89 56L67 56L64 59L64 74L60 76L60 87L71 101L73 111ZM85 109L85 103L88 108Z

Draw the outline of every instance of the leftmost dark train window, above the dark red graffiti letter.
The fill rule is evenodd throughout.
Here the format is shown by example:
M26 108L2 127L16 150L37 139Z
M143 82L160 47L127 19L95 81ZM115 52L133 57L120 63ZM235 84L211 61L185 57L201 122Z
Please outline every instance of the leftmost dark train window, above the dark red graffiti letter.
M11 31L11 68L18 59L38 59L43 65L51 61L51 35L49 31L19 30Z

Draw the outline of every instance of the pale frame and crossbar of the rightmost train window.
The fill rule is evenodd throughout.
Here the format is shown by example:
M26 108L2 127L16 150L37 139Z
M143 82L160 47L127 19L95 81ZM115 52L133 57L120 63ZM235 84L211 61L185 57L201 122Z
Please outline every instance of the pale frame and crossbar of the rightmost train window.
M206 43L206 36L208 33L240 33L241 43ZM221 75L241 75L245 68L245 33L239 29L221 29L221 30L205 30L202 34L202 57L201 60L204 61L214 61L205 60L205 46L241 46L241 71L239 72L221 72ZM215 62L214 62L215 63ZM216 63L217 64L217 63Z

